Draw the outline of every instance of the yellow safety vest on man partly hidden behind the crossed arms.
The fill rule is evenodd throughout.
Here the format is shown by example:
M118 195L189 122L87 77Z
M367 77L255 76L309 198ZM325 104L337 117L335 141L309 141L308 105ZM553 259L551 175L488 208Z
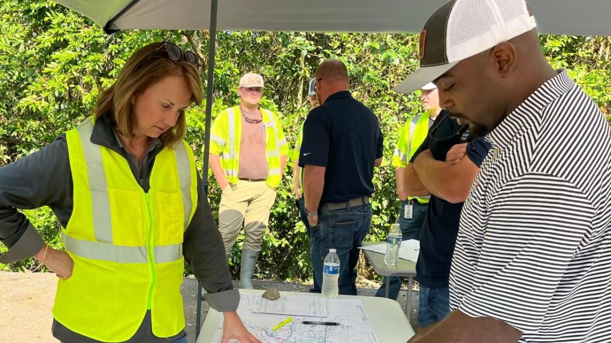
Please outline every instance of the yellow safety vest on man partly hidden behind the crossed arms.
M392 156L392 165L394 167L405 168L408 166L408 162L412 159L412 156L414 156L422 142L424 142L426 135L428 135L428 129L431 126L430 120L428 120L430 115L431 113L428 111L421 115L416 115L403 125L395 153ZM430 197L408 197L408 199L416 199L419 203L426 204Z

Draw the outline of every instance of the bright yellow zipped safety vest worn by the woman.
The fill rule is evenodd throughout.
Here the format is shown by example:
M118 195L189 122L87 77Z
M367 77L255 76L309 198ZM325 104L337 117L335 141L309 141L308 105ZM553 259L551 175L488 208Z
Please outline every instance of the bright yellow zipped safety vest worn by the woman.
M90 142L93 121L67 132L74 207L62 240L74 260L54 318L104 342L130 339L151 311L155 336L185 328L182 243L197 206L195 159L177 142L155 157L145 193L128 161Z

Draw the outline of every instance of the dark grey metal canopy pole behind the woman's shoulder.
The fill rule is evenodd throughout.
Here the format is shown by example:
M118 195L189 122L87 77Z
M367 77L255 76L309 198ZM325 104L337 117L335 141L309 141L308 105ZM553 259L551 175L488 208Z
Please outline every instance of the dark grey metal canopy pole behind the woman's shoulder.
M205 195L208 195L208 161L210 156L210 125L212 122L212 102L214 96L214 57L216 56L216 12L218 0L210 0L210 48L208 49L208 82L206 83L206 128L203 165L202 165L202 187ZM200 323L202 322L202 285L197 283L197 322L195 328L196 339L199 337Z

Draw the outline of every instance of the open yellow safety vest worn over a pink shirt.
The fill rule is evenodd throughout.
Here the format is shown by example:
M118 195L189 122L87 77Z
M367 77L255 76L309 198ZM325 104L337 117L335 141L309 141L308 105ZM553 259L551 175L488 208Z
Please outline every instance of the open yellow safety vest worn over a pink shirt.
M267 184L276 189L282 181L280 156L288 154L287 139L280 121L271 110L261 109L265 129L265 155L269 166ZM223 110L214 119L210 131L210 153L221 157L221 167L230 184L238 183L242 118L240 107Z

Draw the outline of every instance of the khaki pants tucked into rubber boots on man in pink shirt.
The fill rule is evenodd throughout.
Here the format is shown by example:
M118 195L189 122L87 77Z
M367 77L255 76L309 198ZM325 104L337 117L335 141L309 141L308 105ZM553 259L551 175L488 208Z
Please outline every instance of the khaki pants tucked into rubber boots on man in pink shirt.
M219 205L219 231L229 255L244 223L243 249L261 251L263 233L269 223L269 211L276 200L276 190L264 181L239 180L225 187Z

